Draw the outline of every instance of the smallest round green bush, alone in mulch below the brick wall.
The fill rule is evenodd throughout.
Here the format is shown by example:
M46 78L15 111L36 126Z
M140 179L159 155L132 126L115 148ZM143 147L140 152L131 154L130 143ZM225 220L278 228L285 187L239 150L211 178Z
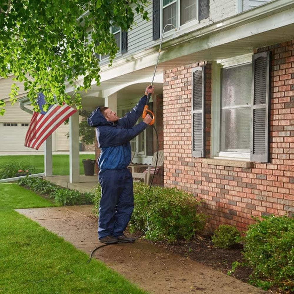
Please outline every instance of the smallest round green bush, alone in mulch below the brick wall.
M219 225L211 240L215 247L230 249L240 242L240 232L232 225Z

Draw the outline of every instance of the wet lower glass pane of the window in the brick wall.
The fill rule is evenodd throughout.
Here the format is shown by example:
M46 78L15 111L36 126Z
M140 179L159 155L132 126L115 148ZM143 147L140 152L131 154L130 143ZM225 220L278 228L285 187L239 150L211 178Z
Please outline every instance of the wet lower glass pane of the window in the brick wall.
M220 126L220 151L249 151L251 108L223 109Z

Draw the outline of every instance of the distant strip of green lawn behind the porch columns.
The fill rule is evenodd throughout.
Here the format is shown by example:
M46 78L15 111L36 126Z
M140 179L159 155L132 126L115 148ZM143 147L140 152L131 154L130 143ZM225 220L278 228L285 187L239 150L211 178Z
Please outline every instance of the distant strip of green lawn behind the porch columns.
M84 173L83 159L95 159L94 154L80 154L80 174ZM44 155L7 155L0 156L0 167L14 161L15 163L21 163L26 161L29 166L34 166L40 173L44 172ZM60 176L69 175L69 155L56 154L52 156L53 174Z

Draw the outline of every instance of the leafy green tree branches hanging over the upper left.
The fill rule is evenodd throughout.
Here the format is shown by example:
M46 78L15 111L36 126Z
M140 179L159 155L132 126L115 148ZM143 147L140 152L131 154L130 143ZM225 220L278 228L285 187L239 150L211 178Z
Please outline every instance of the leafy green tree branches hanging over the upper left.
M0 0L0 76L24 83L34 110L43 92L50 105L81 108L79 91L99 84L99 55L117 53L111 26L131 28L134 11L148 20L148 0ZM83 84L76 81L83 76ZM66 83L74 96L65 93ZM12 85L10 101L19 88ZM2 98L2 97L0 97ZM0 99L0 114L5 112ZM46 110L46 106L45 106Z

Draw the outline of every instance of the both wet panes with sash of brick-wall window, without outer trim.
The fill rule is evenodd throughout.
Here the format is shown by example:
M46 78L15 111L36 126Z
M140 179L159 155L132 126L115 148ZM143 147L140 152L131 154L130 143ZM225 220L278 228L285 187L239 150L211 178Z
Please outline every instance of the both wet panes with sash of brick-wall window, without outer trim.
M221 152L250 153L251 81L251 63L221 70Z

